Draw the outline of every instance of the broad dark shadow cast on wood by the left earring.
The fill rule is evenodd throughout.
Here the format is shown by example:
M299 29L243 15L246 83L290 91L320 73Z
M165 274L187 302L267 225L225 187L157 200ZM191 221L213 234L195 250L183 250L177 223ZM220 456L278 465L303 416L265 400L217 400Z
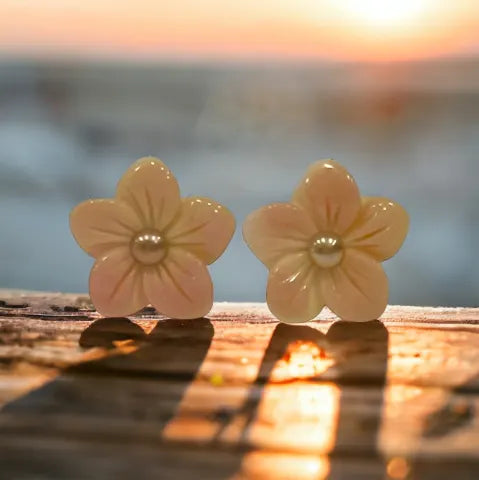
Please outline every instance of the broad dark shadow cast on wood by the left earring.
M40 472L49 478L93 479L112 478L105 472L113 466L128 470L136 465L138 478L149 478L148 465L158 467L161 457L144 462L141 449L126 445L140 445L148 438L157 445L162 439L207 355L213 333L207 318L159 320L149 334L127 318L94 322L79 344L106 348L109 354L67 368L53 381L7 404L0 412L0 429L2 424L21 424L22 418L42 419L32 425L27 422L29 436L68 439L78 448L91 445L84 443L85 435L98 430L103 440L93 443L97 445L93 463L101 471L92 471L88 458L80 453L66 450L69 453L64 455L62 449L55 449L45 454L35 443L27 449L28 462L18 455L2 461L5 471L22 478ZM109 445L115 442L125 442L124 457L111 458Z

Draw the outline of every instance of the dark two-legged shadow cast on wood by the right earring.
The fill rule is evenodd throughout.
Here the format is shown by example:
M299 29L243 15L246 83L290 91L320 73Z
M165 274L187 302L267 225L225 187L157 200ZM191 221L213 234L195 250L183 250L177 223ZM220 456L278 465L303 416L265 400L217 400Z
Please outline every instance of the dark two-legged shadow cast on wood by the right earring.
M344 458L350 455L351 450L373 459L374 472L371 472L368 480L384 478L384 464L377 441L384 404L389 334L378 320L366 323L339 321L330 327L326 335L308 326L279 324L273 331L254 384L241 409L246 417L243 441L247 440L264 387L270 380L275 364L285 356L288 346L297 341L313 342L335 359L333 367L317 377L309 378L310 381L330 382L333 377L340 390L328 478L355 478L355 472L347 471L344 466ZM360 389L356 394L352 392L355 387ZM364 392L368 398L358 398ZM363 404L367 402L366 417L364 409L357 408L358 401ZM360 425L360 432L351 437L355 425Z

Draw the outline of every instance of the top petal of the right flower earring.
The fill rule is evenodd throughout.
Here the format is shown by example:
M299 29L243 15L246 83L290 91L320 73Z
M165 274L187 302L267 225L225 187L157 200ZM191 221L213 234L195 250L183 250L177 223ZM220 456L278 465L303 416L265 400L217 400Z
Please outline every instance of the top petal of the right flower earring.
M361 207L356 182L334 160L311 165L292 201L311 215L319 231L337 234L350 227Z

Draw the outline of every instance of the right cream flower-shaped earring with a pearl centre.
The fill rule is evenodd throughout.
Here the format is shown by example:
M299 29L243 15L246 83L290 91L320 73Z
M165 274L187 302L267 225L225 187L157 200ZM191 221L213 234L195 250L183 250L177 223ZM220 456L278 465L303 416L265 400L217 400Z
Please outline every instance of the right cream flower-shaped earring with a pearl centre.
M324 306L351 321L380 317L388 280L381 262L401 247L407 212L380 197L360 197L351 175L333 160L313 164L291 203L248 216L243 236L268 267L266 299L286 323L315 318Z

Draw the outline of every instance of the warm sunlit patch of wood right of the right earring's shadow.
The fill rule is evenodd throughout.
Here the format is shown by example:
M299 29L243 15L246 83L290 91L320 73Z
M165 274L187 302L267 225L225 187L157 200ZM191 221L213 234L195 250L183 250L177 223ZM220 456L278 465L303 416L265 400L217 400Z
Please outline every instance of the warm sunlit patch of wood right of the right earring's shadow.
M378 448L386 457L427 451L424 434L428 419L435 412L447 408L451 397L451 390L444 388L441 383L447 377L444 372L454 369L453 378L457 385L467 384L479 374L479 369L470 368L470 356L474 353L471 349L461 351L460 355L446 354L451 349L450 333L447 331L427 330L429 338L424 345L421 343L425 341L424 338L421 339L417 332L410 329L389 328L389 332L387 378L390 383L384 389L378 436ZM467 333L457 332L455 335L466 338ZM405 345L416 353L404 355ZM407 384L408 378L415 378L416 384ZM394 383L391 379L394 379ZM398 432L401 434L398 435ZM470 445L471 452L474 451L473 441L465 444ZM446 450L448 445L444 443Z

